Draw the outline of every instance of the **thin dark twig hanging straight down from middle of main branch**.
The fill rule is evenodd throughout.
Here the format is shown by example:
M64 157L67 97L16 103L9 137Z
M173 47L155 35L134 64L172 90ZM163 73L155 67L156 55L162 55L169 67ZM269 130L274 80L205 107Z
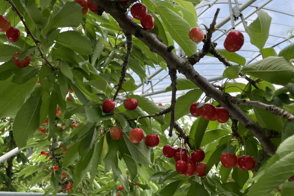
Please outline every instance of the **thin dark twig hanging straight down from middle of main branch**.
M168 74L171 77L171 123L169 126L168 135L171 137L173 134L173 125L175 123L175 105L176 105L176 93L177 93L177 70L168 66Z

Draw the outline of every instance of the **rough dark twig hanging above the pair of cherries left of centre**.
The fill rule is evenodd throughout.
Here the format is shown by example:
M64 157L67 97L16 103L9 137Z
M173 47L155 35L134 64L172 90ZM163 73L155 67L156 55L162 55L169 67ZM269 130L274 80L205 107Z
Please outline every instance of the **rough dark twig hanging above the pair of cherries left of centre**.
M123 67L121 68L121 77L119 78L118 86L116 89L116 92L114 93L113 100L115 100L119 90L121 90L121 87L123 86L123 82L125 81L126 75L127 75L127 66L129 62L129 58L132 52L132 47L133 47L133 39L132 35L125 33L126 39L127 39L127 53L125 56L125 60L123 61Z

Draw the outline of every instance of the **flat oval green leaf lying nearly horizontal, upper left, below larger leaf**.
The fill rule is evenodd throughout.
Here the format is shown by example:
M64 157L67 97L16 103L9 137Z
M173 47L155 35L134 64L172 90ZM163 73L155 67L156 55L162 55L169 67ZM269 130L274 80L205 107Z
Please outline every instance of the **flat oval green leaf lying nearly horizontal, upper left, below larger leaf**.
M90 39L78 31L64 31L56 36L56 42L68 47L81 55L92 54Z

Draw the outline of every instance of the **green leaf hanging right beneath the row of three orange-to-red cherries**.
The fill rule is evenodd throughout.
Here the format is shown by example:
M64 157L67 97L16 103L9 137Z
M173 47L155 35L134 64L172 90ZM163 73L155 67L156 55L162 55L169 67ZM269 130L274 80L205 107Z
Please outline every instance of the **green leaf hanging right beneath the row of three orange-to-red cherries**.
M134 144L126 134L123 134L123 139L136 163L151 164L150 149L144 141Z

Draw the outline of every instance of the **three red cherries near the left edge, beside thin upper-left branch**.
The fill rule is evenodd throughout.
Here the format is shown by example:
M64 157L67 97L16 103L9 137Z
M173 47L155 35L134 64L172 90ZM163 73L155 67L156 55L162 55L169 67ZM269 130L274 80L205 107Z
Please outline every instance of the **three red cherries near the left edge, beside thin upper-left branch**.
M20 31L11 26L11 23L9 19L7 19L5 16L0 16L0 32L6 32L6 37L11 42L16 42L19 40L20 37ZM26 67L31 62L31 57L26 56L24 60L19 60L19 58L16 58L17 55L19 55L20 52L17 52L13 55L13 62L18 67Z

